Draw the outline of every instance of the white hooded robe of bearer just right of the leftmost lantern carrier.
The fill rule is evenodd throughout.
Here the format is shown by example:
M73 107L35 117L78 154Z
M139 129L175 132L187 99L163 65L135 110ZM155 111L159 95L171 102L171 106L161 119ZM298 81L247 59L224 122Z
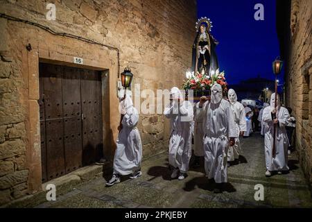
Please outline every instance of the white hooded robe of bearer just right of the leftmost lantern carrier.
M193 105L183 101L178 109L177 103L169 104L164 115L171 121L171 136L169 138L168 160L181 173L189 170L191 159L191 121L193 121Z

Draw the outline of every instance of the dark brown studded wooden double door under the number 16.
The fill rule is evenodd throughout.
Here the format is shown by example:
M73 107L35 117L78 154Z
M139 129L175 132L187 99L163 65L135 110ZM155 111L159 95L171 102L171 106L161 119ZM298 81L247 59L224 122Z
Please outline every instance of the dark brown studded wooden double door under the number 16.
M101 73L40 63L42 180L103 156Z

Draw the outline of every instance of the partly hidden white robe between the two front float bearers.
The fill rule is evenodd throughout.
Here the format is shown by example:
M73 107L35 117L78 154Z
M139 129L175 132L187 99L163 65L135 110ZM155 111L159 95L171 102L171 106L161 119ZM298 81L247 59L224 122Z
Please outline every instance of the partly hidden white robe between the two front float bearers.
M198 157L203 157L204 152L204 131L202 126L203 116L205 112L202 110L205 109L208 102L202 104L202 108L199 107L199 102L194 106L194 154Z

